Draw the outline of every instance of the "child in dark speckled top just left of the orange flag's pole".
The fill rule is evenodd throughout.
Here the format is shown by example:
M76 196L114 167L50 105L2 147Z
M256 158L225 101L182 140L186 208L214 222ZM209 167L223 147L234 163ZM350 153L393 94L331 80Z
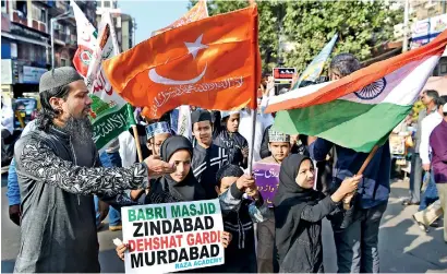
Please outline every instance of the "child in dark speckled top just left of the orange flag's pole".
M214 144L228 151L231 164L246 168L249 142L239 133L239 111L221 111L220 127L214 140Z

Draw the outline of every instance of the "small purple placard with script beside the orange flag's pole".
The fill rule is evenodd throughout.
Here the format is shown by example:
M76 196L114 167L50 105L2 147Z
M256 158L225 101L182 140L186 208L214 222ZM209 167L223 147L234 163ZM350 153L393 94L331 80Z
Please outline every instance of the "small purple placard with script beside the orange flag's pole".
M279 168L278 164L261 164L253 165L254 178L257 190L263 195L268 207L273 207L274 196L279 186Z

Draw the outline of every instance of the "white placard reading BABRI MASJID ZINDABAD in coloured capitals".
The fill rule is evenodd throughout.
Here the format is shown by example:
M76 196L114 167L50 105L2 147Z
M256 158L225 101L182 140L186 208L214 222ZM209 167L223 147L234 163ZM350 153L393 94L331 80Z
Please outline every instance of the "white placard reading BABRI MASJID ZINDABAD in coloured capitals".
M219 200L121 209L125 273L168 273L224 264Z

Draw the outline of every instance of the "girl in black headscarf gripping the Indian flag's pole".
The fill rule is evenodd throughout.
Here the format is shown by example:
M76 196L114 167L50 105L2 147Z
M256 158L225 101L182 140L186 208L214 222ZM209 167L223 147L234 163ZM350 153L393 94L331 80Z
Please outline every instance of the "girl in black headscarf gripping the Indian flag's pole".
M274 199L279 272L322 273L322 219L357 189L361 176L347 178L330 196L315 191L314 166L303 155L289 155L281 164Z

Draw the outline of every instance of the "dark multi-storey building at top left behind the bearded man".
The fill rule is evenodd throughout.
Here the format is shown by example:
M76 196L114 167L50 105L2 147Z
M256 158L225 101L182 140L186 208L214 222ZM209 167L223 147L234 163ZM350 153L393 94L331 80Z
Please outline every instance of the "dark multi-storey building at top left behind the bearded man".
M96 2L75 1L95 23ZM69 1L1 0L1 90L4 97L38 94L51 67L50 19L68 12ZM72 65L76 50L74 19L55 23L55 65Z

